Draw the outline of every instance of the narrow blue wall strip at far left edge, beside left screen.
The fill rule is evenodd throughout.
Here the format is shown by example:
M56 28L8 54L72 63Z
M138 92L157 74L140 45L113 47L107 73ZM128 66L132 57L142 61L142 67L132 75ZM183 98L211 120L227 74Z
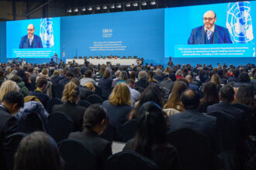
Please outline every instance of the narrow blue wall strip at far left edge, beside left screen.
M6 60L6 22L0 22L0 63Z

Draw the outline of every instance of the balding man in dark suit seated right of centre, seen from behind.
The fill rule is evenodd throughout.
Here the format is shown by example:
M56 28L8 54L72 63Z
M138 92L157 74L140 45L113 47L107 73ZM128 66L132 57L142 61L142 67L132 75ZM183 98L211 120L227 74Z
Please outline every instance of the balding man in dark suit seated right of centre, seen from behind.
M216 117L199 112L200 97L195 90L185 90L181 96L184 111L169 117L170 131L190 128L213 139L216 135Z

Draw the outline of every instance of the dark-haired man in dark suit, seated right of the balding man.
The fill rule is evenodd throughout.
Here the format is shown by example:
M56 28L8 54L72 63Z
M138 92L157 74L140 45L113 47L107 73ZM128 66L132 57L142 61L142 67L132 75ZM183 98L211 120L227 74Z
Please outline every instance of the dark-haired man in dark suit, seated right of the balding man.
M220 103L213 104L207 107L207 113L212 113L213 111L223 111L226 114L230 114L234 117L234 120L237 122L239 131L237 133L241 134L243 138L247 138L247 124L245 122L244 110L240 110L231 104L234 101L234 88L225 85L220 90Z

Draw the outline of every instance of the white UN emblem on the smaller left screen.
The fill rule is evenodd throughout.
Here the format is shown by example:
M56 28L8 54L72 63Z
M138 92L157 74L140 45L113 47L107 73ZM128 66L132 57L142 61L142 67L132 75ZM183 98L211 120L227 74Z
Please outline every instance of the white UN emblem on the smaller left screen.
M54 29L53 20L51 18L41 19L40 37L43 42L43 48L51 48L54 46Z

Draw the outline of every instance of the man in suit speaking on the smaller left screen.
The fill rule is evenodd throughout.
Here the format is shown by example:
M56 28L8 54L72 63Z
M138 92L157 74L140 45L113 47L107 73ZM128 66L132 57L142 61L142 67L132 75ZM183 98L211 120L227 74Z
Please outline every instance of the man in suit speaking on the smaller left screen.
M22 37L19 43L19 49L43 48L40 36L34 35L34 32L35 27L33 24L29 24L28 35Z

